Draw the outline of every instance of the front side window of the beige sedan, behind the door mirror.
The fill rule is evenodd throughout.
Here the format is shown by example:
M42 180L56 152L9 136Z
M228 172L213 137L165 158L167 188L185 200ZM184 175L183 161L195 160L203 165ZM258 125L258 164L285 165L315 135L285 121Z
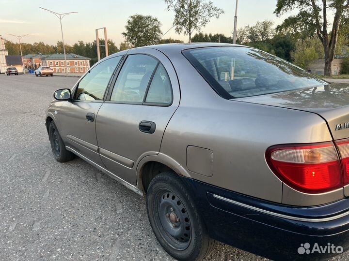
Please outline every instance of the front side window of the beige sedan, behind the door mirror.
M101 101L107 89L111 75L119 64L122 56L107 59L96 65L81 79L75 100Z

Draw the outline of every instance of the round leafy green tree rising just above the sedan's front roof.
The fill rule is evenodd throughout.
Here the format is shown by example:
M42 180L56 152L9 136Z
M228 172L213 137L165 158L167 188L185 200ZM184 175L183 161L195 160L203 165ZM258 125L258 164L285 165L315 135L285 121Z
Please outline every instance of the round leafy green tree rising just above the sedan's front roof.
M161 23L150 15L131 15L122 33L126 41L133 47L140 47L158 43L161 37Z

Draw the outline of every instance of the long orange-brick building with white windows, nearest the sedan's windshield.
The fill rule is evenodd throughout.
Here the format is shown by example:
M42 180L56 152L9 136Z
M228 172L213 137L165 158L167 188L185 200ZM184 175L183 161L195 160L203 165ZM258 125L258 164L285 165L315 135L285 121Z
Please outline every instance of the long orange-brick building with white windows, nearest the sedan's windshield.
M52 54L41 59L42 66L49 66L55 73L85 73L90 69L90 58L76 54L67 54L66 63L63 54Z

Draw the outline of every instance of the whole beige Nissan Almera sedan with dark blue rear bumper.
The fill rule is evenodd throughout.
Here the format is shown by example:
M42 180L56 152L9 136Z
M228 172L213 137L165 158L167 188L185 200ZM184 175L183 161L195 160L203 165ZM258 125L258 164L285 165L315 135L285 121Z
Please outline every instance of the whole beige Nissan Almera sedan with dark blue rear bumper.
M217 240L274 260L348 249L348 85L247 46L164 44L104 58L54 98L54 158L146 196L175 259Z

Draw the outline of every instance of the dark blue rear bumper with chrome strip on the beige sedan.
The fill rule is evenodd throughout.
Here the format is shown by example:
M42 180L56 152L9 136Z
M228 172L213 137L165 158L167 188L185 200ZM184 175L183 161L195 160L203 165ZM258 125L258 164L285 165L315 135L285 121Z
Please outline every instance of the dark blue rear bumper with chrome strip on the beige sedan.
M349 249L349 199L292 207L185 180L195 191L193 197L210 236L223 243L272 260L328 260L338 254L333 248L326 248L325 253L314 248L313 253L299 254L305 243L310 244L310 251L316 243L318 247L330 243Z

